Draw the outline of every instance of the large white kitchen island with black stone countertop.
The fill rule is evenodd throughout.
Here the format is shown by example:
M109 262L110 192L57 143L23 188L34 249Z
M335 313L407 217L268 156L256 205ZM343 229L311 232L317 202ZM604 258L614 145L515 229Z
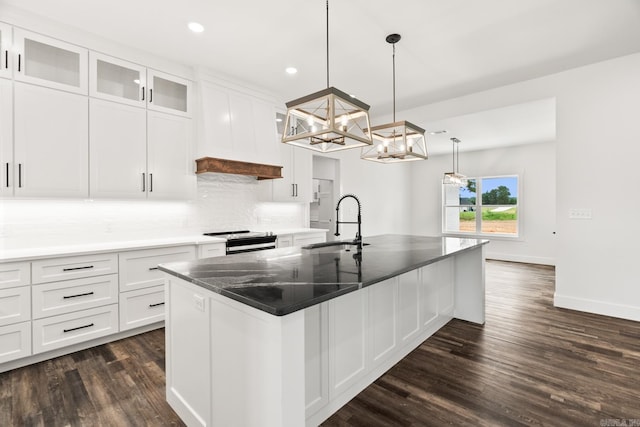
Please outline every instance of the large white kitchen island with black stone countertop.
M384 235L161 265L167 401L188 425L317 425L451 318L484 323L484 244Z

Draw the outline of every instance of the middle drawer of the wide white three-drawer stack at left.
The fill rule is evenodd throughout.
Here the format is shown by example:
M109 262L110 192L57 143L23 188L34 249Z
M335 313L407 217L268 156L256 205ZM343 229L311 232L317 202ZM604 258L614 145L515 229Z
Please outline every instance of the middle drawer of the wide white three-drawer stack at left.
M33 285L32 293L34 319L115 304L118 302L118 275Z

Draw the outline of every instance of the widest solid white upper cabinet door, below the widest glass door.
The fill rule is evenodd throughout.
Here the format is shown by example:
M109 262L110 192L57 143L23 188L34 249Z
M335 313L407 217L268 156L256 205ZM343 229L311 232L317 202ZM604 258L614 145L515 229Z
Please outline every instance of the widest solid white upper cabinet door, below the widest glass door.
M87 97L14 83L15 196L87 197Z

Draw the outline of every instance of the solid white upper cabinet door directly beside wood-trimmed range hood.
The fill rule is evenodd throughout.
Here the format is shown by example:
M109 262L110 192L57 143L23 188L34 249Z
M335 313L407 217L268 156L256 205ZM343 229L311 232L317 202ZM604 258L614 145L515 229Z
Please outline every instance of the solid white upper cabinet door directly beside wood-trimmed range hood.
M147 192L150 199L189 199L196 189L191 119L147 112Z

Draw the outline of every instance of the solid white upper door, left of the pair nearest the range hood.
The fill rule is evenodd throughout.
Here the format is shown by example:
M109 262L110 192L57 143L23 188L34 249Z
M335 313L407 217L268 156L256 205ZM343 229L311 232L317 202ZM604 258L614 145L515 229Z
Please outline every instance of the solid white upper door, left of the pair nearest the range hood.
M91 197L146 198L146 110L101 99L89 110Z

